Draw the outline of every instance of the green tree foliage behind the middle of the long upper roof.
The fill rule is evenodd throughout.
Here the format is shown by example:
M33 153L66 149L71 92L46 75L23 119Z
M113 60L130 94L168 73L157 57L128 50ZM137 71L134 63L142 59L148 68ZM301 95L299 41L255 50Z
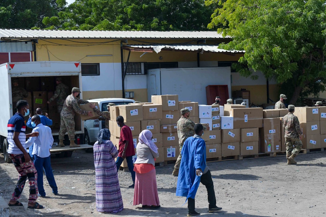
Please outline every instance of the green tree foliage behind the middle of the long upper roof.
M49 29L204 30L214 6L204 0L76 0L43 23Z

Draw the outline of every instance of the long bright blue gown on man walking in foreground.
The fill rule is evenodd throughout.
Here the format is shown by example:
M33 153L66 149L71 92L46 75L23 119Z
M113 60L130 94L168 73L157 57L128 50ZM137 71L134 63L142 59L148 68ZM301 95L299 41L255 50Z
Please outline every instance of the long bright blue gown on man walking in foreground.
M196 169L204 171L206 167L206 145L200 137L189 137L181 151L181 164L177 182L177 196L195 199L200 183Z

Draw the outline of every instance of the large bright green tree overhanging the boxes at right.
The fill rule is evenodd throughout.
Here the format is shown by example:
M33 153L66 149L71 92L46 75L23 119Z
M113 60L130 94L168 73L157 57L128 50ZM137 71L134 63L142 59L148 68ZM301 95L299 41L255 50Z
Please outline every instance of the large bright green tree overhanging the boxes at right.
M209 0L218 3L209 28L217 27L232 41L224 49L245 50L241 65L281 83L295 104L302 94L325 90L325 1ZM251 71L237 65L241 75Z

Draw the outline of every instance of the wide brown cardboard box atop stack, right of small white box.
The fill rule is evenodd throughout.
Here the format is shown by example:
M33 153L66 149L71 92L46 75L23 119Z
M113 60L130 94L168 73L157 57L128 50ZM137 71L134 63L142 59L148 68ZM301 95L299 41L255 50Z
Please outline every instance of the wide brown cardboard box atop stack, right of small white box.
M262 108L231 108L233 128L260 128L263 123Z

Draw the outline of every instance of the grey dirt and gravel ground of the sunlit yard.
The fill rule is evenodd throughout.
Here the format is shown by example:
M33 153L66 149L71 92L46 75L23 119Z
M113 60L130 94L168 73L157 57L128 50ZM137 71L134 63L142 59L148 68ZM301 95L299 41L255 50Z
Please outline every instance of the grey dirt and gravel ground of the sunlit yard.
M297 165L286 165L285 156L208 163L218 213L208 213L207 191L203 185L196 195L200 216L326 216L326 152L298 155ZM186 216L184 197L175 196L177 178L171 176L173 165L156 168L159 210L142 210L133 206L130 173L119 171L124 210L117 214L96 211L93 154L74 152L72 157L52 158L59 195L53 195L44 182L46 197L38 202L43 210L27 209L28 186L23 190L22 207L11 207L11 216ZM18 173L13 164L4 163L0 155L0 195L8 201Z

